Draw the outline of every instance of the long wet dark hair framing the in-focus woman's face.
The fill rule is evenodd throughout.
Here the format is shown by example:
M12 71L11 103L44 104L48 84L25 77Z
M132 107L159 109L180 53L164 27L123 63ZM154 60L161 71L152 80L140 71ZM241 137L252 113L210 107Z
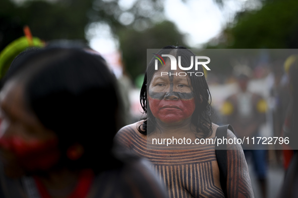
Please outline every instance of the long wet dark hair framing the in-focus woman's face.
M157 52L158 55L161 56L161 54L171 54L176 57L176 60L178 60L178 56L181 56L181 64L182 65L191 65L191 56L196 56L191 50L187 49L183 46L173 46L168 45L164 48L160 49ZM164 60L166 61L169 59L168 57L164 57ZM138 127L138 131L141 134L150 134L156 126L156 120L153 116L150 107L147 106L147 92L149 89L150 82L152 80L153 75L156 73L154 70L155 67L155 58L153 57L151 61L148 64L144 82L141 88L140 93L140 102L142 105L142 108L144 110L144 117L141 120L144 120L144 123ZM158 64L158 67L160 69L161 63ZM193 75L188 75L188 80L190 81L191 85L191 91L195 98L195 104L196 108L192 115L192 123L196 126L197 133L202 134L203 137L208 137L212 133L212 122L210 118L211 114L211 94L209 91L209 87L207 85L205 76L197 77L194 75L194 73L202 72L204 73L202 65L198 65L198 70L195 70L195 67L193 67L188 72L193 72ZM148 86L147 86L148 85ZM209 100L210 99L210 100ZM153 126L148 129L148 125Z

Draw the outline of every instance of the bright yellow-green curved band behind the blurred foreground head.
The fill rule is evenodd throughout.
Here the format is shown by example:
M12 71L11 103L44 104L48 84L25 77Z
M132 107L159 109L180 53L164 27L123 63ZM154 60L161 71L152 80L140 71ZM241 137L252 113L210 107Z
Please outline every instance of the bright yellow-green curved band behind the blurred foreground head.
M22 36L7 45L0 52L0 79L4 77L13 59L27 47L33 46L43 47L44 43L37 37L32 37L32 40L28 41L26 36Z

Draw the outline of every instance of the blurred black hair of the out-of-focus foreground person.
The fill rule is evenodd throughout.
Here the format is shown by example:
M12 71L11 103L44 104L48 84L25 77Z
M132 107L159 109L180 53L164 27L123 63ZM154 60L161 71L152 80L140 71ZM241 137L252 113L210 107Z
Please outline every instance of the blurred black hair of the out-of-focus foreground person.
M68 168L99 172L116 165L111 150L121 127L120 100L116 79L101 60L79 48L47 47L26 56L12 77L24 86L28 109L57 135ZM77 161L66 156L73 144L84 148Z

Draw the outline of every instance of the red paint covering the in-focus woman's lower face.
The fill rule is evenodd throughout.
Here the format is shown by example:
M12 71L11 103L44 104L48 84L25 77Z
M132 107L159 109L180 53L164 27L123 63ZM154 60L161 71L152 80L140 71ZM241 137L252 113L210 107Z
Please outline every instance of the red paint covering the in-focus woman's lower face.
M148 97L152 114L165 123L174 123L192 116L195 111L195 99L160 100Z

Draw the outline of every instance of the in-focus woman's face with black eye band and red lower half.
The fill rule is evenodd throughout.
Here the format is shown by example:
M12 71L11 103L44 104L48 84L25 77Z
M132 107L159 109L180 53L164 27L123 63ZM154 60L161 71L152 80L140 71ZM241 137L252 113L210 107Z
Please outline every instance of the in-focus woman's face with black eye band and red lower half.
M168 74L164 75L165 72ZM180 72L185 71L179 69L170 71L170 66L166 62L166 65L151 79L148 94L149 106L154 117L163 123L180 123L190 120L195 110L195 99L188 77L179 76Z

